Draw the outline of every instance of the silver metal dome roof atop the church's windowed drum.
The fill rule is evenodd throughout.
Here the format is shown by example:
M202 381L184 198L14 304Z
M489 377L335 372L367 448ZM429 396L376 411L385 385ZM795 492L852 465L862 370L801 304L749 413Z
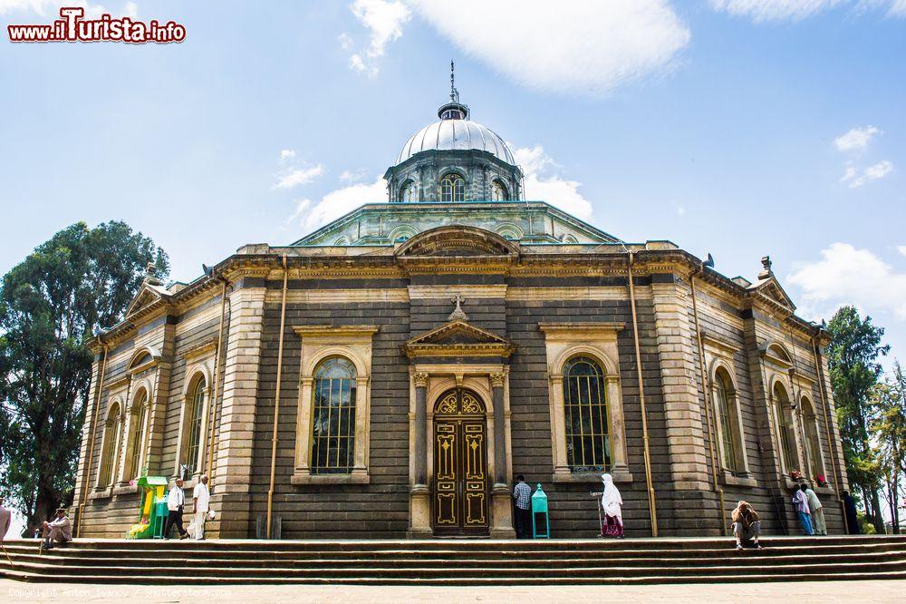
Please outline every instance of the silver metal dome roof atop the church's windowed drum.
M516 165L513 153L503 139L490 128L471 120L439 120L412 135L397 156L397 165L419 151L446 151L451 149L477 149L487 151L497 159Z

